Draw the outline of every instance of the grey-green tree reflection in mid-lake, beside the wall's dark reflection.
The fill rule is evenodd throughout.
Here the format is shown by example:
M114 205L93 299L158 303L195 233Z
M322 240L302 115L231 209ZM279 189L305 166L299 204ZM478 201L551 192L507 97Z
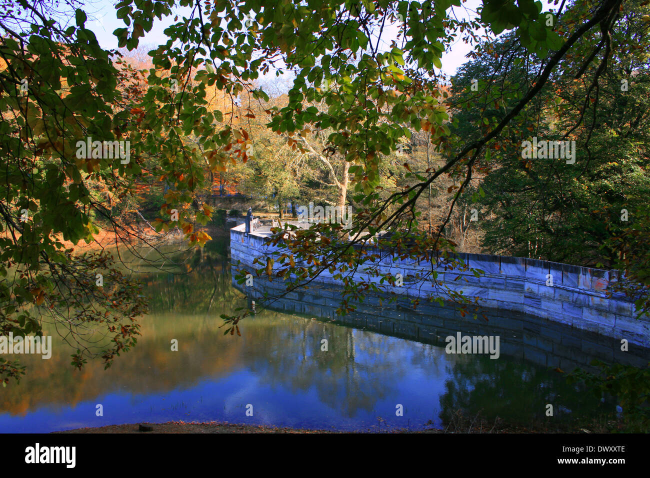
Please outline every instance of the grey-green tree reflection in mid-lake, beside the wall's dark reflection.
M264 317L283 321L260 330L252 347L250 367L270 388L313 389L322 403L354 417L394 395L395 385L408 374L409 363L400 360L411 353L406 341L278 312L266 311ZM324 338L327 352L320 350Z

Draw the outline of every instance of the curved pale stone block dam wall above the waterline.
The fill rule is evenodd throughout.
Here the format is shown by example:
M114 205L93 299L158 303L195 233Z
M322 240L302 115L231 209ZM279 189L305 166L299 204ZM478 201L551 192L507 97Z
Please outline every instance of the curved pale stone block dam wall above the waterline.
M268 237L268 235L266 235ZM253 265L255 258L268 255L276 248L265 245L264 233L244 233L244 225L230 230L231 261L253 270L261 265ZM434 297L441 289L432 281L421 278L430 273L428 261L397 259L385 250L365 247L370 254L378 254L380 259L365 267L379 269L393 275L400 273L404 278L402 287L383 284L387 293L406 297ZM595 332L601 336L627 339L629 343L650 347L650 317L636 319L634 303L625 295L606 297L605 290L617 271L603 271L556 262L539 261L528 258L489 256L486 254L456 254L465 265L480 269L484 274L474 276L471 270L446 270L437 267L437 280L468 297L478 297L480 306L491 310L521 312L541 319L561 323L580 330ZM274 269L279 266L274 265ZM361 267L359 267L361 269ZM552 276L552 285L549 282ZM459 278L460 276L460 278ZM357 272L354 279L378 282L367 272ZM279 279L278 279L279 280ZM330 272L324 271L314 283L339 284Z

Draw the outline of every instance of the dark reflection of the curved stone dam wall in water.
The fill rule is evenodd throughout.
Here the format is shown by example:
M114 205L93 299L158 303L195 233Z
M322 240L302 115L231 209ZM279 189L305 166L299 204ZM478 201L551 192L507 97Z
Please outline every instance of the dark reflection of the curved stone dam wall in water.
M629 351L623 352L616 339L521 312L490 309L486 310L487 321L474 320L470 314L463 317L457 308L437 302L422 302L414 310L406 296L388 302L385 297L372 294L356 304L353 312L337 315L336 309L341 302L341 287L337 285L319 284L317 288L300 289L278 297L285 292L283 281L257 280L247 287L237 283L236 271L237 266L231 265L233 287L248 297L249 307L255 302L257 312L268 308L305 318L317 317L320 321L443 348L447 345L445 339L457 332L469 336L499 336L500 354L564 371L577 367L597 371L597 367L591 365L595 359L635 367L645 367L650 362L650 349L645 347L631 346ZM269 300L268 297L277 299Z

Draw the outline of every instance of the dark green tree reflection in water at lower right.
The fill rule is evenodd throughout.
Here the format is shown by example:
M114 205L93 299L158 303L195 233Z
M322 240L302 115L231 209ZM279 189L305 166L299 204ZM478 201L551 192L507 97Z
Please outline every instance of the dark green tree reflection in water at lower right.
M450 372L454 379L445 383L440 397L440 418L448 423L456 410L469 416L479 411L484 418L497 416L509 421L530 423L532 420L562 419L566 412L593 415L600 401L582 388L569 385L565 375L525 361L493 360L489 356L454 356ZM553 406L554 417L545 416L546 405Z

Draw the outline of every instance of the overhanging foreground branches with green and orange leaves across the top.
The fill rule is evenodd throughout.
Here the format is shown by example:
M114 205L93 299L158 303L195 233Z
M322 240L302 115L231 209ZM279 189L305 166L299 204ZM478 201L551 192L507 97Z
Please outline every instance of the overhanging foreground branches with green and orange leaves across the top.
M542 12L541 3L533 0L485 0L480 18L475 20L458 20L452 7L460 7L460 0L436 1L435 5L408 0L307 0L286 1L272 8L259 0L204 4L122 0L116 8L125 27L114 34L119 46L129 50L138 46L156 18L172 16L174 5L190 7L187 16L166 29L166 44L151 51L153 68L146 94L136 100L118 88L122 78L129 81L129 77L120 76L125 70L118 70L117 60L99 48L94 34L85 27L86 14L81 8L58 12L52 7L57 4L34 7L26 0L11 5L19 6L31 19L23 29L11 28L7 21L1 23L0 57L6 65L1 72L1 111L9 113L0 124L7 133L2 139L6 155L0 165L0 206L3 227L9 230L3 238L1 260L7 272L17 267L18 280L23 282L2 283L1 320L4 330L13 327L25 334L36 330L36 325L29 321L33 328L27 329L27 319L21 324L26 317L22 307L44 297L42 291L51 294L77 277L72 270L59 278L45 274L76 260L72 254L60 252L57 234L72 244L90 239L96 230L90 210L111 222L106 207L92 198L88 176L104 181L118 194L129 194L142 166L150 164L149 174L170 187L161 217L152 222L155 228L163 231L179 226L192 245L209 239L195 228L196 222L205 223L211 217L211 207L200 204L209 177L205 166L225 170L233 163L246 163L248 146L254 148L254 144L248 127L227 116L227 107L211 104L208 88L216 88L233 101L244 94L255 101L269 101L263 86L253 83L272 68L279 74L294 73L294 80L287 104L269 109L272 119L266 126L294 137L331 131L324 146L346 161L343 165L350 175L352 201L358 206L350 231L343 232L333 224L318 224L293 236L276 231L272 241L282 243L286 250L278 257L281 268L272 273L292 278L289 289L310 282L324 269L348 278L357 267L378 259L363 251L367 235L390 228L395 234L385 245L402 256L430 261L431 274L423 280L435 281L439 258L454 260L449 254L454 246L445 237L445 226L476 170L489 170L488 152L498 150L500 137L511 128L512 133L523 136L522 127L534 111L532 105L544 100L545 87L561 81L560 68L567 57L584 53L581 45L593 45L593 55L586 57L581 75L591 77L588 85L599 79L612 54L612 34L623 28L616 23L620 0L579 3L566 12L553 13ZM52 15L42 10L42 5L47 5ZM11 8L6 11L5 20L19 23L20 16ZM55 14L73 14L76 26L63 29L60 22L49 21L48 16ZM565 15L567 21L558 23L558 17ZM383 49L384 27L390 23L398 24L399 31ZM484 27L492 34L512 29L513 49L521 51L530 75L521 88L495 86L491 98L502 100L494 106L500 113L473 122L477 135L453 135L447 113L452 105L436 68L441 67L443 51L458 35L478 42L478 49L489 47L478 41ZM626 41L623 35L621 38L619 47ZM27 99L19 88L23 79L27 79ZM320 88L324 81L338 87ZM586 100L591 98L589 86L584 94ZM324 103L327 108L306 106L311 102ZM395 191L383 191L384 159L405 138L410 139L411 128L427 133L445 163L421 172L407 162L398 171L404 176ZM130 160L78 158L75 145L79 137L129 140ZM302 144L296 144L298 149L309 152ZM44 162L43 168L38 161ZM448 188L453 196L442 224L428 233L421 227L422 211L417 204L445 175L458 185ZM32 222L19 224L16 214L21 209L36 211ZM348 232L352 241L341 241ZM336 234L338 238L333 237ZM321 240L317 241L318 237ZM34 278L36 272L40 278ZM378 289L374 283L348 281L346 297L362 297L374 289ZM84 289L83 294L87 293ZM136 300L137 295L129 297ZM141 304L129 304L133 306L129 308L128 302L122 300L120 311L127 317L143 311ZM342 309L350 307L344 300ZM95 317L88 314L82 313L78 319ZM238 318L228 320L236 324ZM114 337L118 346L105 356L109 360L110 351L118 352L133 343L135 326L121 330L128 339L123 342L120 334ZM81 362L79 354L77 358Z

